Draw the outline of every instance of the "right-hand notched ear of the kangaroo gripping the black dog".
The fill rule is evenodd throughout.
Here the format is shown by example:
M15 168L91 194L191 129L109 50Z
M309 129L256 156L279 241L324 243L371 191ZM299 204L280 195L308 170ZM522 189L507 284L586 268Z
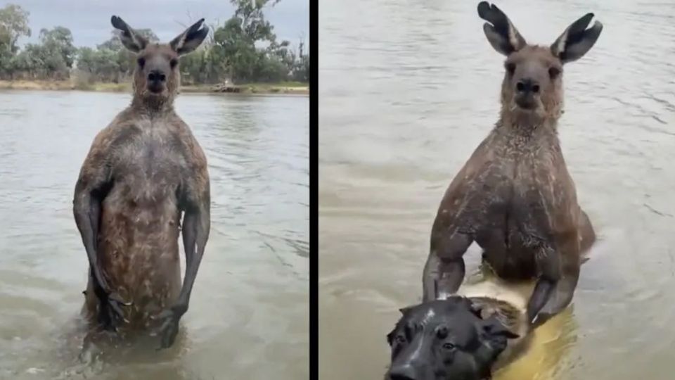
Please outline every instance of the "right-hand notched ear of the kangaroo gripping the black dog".
M551 45L551 53L563 63L577 61L586 54L600 37L603 24L596 20L593 27L586 29L593 20L593 13L586 13L574 21Z

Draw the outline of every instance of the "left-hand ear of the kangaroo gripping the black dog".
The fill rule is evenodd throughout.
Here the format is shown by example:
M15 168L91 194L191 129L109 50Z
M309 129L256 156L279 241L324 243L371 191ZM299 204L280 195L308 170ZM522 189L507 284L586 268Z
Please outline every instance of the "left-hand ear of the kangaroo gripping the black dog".
M483 24L485 37L487 37L487 41L499 53L508 56L510 53L518 51L527 45L525 38L520 35L520 32L506 17L506 14L497 8L496 5L490 5L487 1L481 1L478 4L478 16L487 21L487 23Z

